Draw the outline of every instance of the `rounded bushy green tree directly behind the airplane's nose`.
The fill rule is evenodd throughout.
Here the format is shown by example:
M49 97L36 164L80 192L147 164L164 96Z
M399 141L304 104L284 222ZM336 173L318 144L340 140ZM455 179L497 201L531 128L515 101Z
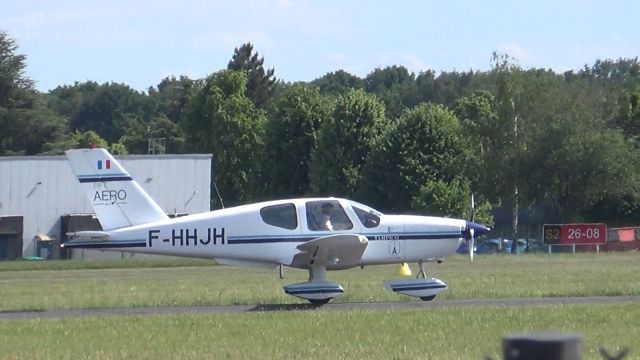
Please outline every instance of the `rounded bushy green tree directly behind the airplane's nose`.
M415 210L412 202L429 181L456 185L465 157L456 116L445 106L420 104L405 110L368 154L359 198L385 211Z

